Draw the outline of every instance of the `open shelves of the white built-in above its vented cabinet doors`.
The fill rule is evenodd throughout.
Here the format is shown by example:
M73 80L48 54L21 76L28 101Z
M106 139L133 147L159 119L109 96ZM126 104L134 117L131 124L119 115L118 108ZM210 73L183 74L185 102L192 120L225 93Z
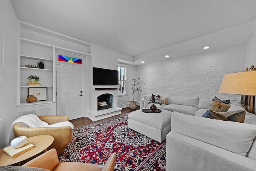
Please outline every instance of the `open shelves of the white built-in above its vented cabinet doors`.
M22 35L21 35L22 36ZM54 46L44 42L30 40L28 38L20 37L20 100L18 105L34 105L35 103L27 103L26 97L28 95L28 87L47 87L47 101L55 102L54 96ZM36 65L38 62L44 62L44 68L29 68L25 65ZM36 75L39 77L40 86L29 86L28 76ZM44 104L45 101L38 101L37 103Z

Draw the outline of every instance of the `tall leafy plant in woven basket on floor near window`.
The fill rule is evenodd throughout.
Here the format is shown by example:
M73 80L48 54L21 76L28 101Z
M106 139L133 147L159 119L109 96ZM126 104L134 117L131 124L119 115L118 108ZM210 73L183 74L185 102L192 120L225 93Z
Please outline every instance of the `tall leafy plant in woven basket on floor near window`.
M131 94L132 94L132 101L130 101L129 108L130 109L136 109L137 107L137 101L134 101L134 97L136 94L142 91L142 85L145 84L142 80L140 80L140 77L138 79L132 78L131 82Z

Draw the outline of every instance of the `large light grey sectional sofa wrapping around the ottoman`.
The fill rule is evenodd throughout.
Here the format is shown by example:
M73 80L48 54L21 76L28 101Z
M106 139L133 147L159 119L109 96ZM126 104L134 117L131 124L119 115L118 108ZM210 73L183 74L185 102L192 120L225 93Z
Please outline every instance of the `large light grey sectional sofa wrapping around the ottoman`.
M147 100L146 95L141 108L152 105ZM256 171L256 115L246 111L244 123L202 117L211 101L170 95L169 104L155 104L172 111L166 171ZM230 105L228 111L244 110L239 101Z

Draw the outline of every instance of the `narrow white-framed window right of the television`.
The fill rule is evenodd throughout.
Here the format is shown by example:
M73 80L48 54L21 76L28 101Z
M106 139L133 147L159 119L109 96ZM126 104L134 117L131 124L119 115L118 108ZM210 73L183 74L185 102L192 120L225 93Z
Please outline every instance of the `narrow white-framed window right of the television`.
M118 95L126 94L126 66L118 64Z

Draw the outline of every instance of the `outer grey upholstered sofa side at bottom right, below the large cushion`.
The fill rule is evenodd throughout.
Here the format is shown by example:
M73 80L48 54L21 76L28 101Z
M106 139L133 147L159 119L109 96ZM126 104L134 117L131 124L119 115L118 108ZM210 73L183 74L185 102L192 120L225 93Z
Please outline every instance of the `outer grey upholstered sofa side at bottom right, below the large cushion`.
M166 142L166 170L256 170L256 162L253 159L174 131L166 135Z

